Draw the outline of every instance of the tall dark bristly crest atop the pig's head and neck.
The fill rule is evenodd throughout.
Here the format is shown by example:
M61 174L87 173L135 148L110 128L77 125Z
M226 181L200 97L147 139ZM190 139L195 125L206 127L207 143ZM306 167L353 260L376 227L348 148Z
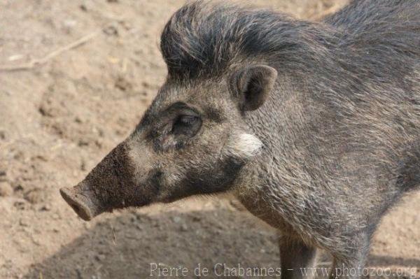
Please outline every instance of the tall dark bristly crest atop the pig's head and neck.
M316 50L323 47L315 25L271 10L194 1L166 24L160 48L169 76L186 78L218 75L246 57L274 53L276 62L305 64L310 53L323 52Z

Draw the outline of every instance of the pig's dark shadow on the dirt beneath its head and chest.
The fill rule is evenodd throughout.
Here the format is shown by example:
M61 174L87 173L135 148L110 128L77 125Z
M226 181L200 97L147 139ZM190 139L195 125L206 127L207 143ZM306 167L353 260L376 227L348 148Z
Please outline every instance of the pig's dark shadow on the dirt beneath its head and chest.
M325 258L325 255L323 256ZM248 215L228 209L160 215L132 212L97 223L45 261L31 267L25 278L221 278L223 266L279 267L276 236ZM159 277L153 264L172 269ZM209 269L196 276L196 268ZM419 259L372 255L374 266L420 266ZM226 272L226 271L225 271ZM151 273L153 277L151 277ZM261 278L235 276L226 278ZM265 277L267 278L267 277ZM272 276L272 278L276 278Z

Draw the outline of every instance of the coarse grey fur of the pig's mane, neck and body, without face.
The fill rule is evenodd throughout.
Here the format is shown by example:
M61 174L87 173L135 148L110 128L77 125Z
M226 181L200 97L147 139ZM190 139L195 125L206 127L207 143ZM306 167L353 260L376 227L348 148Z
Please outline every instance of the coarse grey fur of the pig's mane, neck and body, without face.
M380 217L419 184L419 46L416 0L353 1L322 23L195 2L161 43L180 80L255 62L278 71L269 100L244 115L265 148L239 196L345 262L365 254Z

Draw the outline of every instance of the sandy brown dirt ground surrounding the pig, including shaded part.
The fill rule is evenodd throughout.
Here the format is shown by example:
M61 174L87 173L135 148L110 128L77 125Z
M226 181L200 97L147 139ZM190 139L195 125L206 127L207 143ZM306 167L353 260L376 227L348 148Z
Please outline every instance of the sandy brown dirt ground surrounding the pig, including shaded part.
M217 263L279 266L275 231L226 199L83 222L59 195L151 103L166 74L159 34L183 2L0 0L0 278L146 278L151 263L184 266L187 278L200 264L215 278ZM251 3L316 19L345 0ZM419 214L413 193L384 218L369 266L419 278Z

